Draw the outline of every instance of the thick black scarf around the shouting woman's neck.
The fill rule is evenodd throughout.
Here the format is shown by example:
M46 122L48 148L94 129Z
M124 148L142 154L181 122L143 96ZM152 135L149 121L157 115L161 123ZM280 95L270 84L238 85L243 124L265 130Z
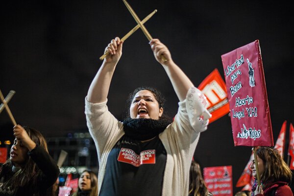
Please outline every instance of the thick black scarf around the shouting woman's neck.
M123 121L125 135L134 140L149 140L159 135L172 121L160 118L153 119L131 119Z

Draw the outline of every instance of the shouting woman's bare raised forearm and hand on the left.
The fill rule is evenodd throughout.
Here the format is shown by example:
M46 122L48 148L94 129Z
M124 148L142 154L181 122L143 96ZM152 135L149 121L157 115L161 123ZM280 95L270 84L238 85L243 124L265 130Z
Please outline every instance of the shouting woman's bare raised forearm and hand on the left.
M123 41L119 37L111 40L105 51L108 50L109 54L105 57L98 73L94 77L87 95L87 100L92 103L101 103L106 101L110 82L122 56Z

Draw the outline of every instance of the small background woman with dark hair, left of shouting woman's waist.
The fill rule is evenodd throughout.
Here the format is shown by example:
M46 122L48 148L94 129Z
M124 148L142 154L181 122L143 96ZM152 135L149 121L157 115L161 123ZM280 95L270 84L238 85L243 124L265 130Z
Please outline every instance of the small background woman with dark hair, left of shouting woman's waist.
M78 190L72 196L97 196L98 179L95 172L85 170L78 178Z

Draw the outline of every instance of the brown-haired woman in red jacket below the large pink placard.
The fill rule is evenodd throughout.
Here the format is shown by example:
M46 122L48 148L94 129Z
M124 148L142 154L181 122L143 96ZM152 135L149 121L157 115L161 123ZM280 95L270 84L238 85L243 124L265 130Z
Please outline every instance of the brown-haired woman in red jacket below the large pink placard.
M289 166L282 159L277 149L259 147L256 150L257 160L252 160L250 169L255 177L251 196L293 196L288 186L292 179ZM261 185L257 183L257 162Z

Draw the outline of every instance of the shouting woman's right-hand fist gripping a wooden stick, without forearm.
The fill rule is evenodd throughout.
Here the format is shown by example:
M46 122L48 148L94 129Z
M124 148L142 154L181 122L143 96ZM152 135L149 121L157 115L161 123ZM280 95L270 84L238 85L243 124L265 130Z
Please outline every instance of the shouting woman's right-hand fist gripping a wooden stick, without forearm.
M152 39L150 41L150 46L153 51L155 59L162 65L167 65L172 61L172 55L170 50L159 41L159 39ZM164 60L165 57L166 61Z

